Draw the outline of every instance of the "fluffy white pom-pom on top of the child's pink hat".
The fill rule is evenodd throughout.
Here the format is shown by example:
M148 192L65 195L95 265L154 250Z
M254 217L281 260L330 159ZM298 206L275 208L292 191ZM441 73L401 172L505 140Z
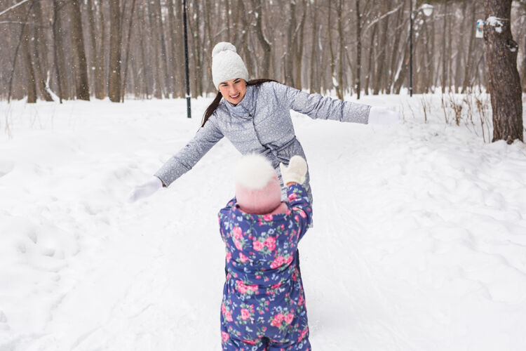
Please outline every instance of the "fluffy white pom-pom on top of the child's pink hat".
M267 157L260 154L247 154L241 157L236 166L236 183L250 190L262 189L276 176Z

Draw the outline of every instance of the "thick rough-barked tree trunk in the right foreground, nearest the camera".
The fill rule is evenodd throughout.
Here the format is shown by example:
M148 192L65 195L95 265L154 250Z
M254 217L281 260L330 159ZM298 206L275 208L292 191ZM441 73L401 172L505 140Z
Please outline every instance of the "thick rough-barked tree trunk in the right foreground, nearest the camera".
M522 139L522 93L517 71L518 44L511 36L511 0L484 0L484 40L493 110L493 139ZM494 20L490 20L490 16Z

